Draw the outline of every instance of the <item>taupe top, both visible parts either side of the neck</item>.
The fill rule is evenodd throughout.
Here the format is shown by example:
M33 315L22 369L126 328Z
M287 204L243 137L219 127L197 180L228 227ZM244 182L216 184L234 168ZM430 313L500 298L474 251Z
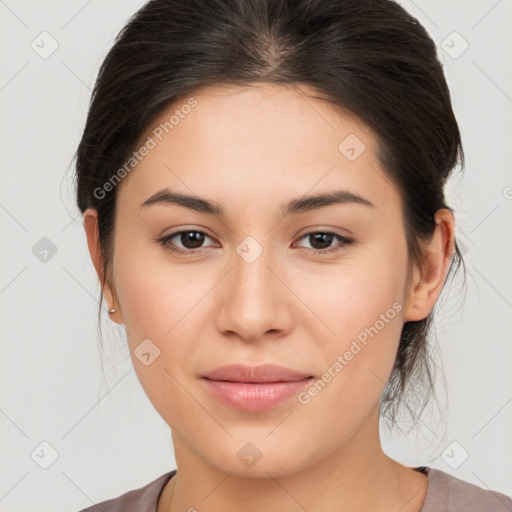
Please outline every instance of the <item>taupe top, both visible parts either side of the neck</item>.
M428 476L427 495L420 512L512 512L512 496L482 489L438 469L414 469ZM80 512L156 512L160 494L175 474L174 469L144 487Z

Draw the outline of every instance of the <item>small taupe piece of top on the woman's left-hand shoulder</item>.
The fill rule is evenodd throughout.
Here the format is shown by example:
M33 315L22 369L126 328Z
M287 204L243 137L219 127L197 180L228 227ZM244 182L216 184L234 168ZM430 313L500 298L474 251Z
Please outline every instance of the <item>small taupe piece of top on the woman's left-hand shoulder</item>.
M102 512L155 512L161 491L175 473L176 470L173 469L139 489L128 491L117 498L96 503L79 512L98 512L99 510Z

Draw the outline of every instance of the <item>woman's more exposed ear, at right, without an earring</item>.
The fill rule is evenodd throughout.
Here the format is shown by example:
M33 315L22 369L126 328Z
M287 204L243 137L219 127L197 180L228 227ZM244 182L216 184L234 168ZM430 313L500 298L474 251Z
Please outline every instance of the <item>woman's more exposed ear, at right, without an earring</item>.
M421 272L415 268L406 299L404 321L423 320L443 289L455 250L455 219L447 208L437 210L432 240L423 246Z

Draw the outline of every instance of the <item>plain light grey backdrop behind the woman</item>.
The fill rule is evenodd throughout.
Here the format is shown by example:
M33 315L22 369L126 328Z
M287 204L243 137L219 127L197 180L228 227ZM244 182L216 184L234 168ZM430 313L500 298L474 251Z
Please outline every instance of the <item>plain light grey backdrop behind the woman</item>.
M143 3L0 0L0 511L79 510L175 468L170 430L108 315L98 350L99 285L72 186L98 68ZM447 197L468 285L464 298L455 281L437 309L444 412L409 434L383 428L383 444L510 495L512 3L402 5L438 46L462 131L465 173Z

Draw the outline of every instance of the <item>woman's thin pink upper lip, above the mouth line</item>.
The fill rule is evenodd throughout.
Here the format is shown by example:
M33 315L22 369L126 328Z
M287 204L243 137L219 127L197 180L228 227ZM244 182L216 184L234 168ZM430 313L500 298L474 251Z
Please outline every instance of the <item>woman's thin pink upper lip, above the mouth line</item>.
M203 377L231 382L291 382L303 380L312 377L312 375L274 364L262 364L260 366L230 364L215 368L215 370L204 374Z

